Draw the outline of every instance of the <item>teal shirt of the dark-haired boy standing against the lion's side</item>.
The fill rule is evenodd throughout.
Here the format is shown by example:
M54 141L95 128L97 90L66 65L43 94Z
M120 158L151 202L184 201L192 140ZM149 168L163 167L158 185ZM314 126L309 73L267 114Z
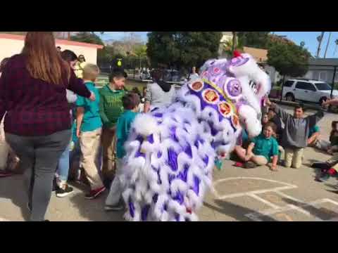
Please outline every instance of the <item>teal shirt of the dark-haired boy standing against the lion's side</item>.
M116 125L116 155L118 158L123 158L125 156L125 141L129 136L130 126L137 115L137 112L132 110L125 110L123 115L118 118L118 123Z

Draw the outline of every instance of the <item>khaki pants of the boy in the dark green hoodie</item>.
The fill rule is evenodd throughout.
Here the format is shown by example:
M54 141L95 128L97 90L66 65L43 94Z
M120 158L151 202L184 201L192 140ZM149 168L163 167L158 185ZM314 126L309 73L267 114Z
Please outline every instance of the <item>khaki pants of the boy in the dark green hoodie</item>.
M102 131L102 146L104 148L104 166L102 175L106 179L113 179L115 176L116 165L116 129L106 129Z

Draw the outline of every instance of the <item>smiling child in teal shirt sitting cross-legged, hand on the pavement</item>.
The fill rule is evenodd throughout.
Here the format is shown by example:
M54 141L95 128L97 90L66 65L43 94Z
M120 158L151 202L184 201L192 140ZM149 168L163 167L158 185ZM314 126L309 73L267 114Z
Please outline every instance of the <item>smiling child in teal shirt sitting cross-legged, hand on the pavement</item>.
M237 154L242 161L246 162L245 168L266 165L272 160L270 169L277 171L278 143L273 137L275 129L275 124L268 122L264 126L263 133L251 140L248 149L242 149L242 152Z

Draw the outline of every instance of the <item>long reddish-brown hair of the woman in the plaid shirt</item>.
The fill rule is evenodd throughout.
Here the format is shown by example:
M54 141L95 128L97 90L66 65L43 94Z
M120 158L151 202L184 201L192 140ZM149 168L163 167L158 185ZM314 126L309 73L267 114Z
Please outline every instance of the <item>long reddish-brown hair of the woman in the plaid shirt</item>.
M56 50L53 32L27 32L23 55L27 70L35 79L51 84L63 84L70 78L70 67Z

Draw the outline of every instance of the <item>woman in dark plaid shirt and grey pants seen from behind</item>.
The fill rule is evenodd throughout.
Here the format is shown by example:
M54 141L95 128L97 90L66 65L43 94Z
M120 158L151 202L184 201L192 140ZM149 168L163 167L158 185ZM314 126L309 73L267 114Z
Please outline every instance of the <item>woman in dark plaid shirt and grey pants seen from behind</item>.
M29 183L30 221L44 221L58 160L70 141L66 89L95 100L56 51L52 32L27 32L0 78L0 121Z

